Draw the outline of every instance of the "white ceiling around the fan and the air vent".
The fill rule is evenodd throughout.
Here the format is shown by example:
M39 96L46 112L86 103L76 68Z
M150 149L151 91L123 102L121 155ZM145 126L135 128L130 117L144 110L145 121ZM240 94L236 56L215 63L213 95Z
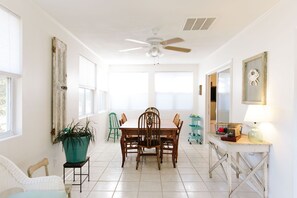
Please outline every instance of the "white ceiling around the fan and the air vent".
M190 53L162 50L160 64L197 64L263 15L279 0L33 0L109 64L152 64L147 49L125 39L145 41L181 37L172 46ZM208 30L183 31L187 18L216 17Z

